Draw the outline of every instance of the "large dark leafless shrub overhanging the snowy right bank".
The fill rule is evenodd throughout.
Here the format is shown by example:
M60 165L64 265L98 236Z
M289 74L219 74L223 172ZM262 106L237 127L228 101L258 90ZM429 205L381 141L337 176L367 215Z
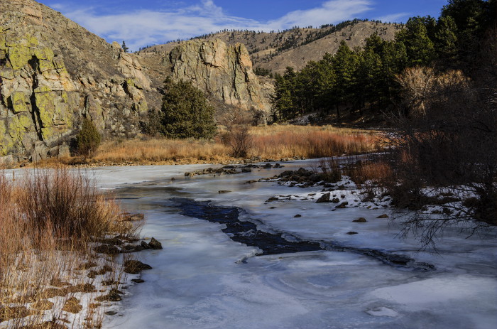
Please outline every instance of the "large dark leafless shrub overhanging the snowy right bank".
M410 72L403 77L414 81L412 89L424 92L414 97L417 102L409 101L407 116L393 118L398 131L387 139L395 146L394 179L386 186L394 205L413 210L405 217L405 232L433 245L449 225L470 233L497 225L497 94L495 86L488 93L491 86L482 87L460 71L417 72L417 80L410 79ZM457 200L444 199L447 193ZM442 213L424 211L425 205L442 201L447 201Z

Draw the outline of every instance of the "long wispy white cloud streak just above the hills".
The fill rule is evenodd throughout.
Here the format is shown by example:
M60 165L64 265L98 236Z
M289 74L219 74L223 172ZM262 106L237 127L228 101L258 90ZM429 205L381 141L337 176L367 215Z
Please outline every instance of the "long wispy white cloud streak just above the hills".
M107 41L126 41L137 50L145 45L185 39L226 29L255 31L283 30L293 26L320 26L338 23L370 11L370 0L330 0L317 8L291 11L271 21L229 16L212 0L202 0L195 6L185 6L163 11L139 10L130 13L99 15L95 8L66 10L65 16L80 23L89 31Z

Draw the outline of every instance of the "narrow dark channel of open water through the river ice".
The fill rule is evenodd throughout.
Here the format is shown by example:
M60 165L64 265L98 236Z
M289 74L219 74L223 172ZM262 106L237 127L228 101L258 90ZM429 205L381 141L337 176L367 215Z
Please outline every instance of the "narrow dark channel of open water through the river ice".
M195 217L209 222L226 225L222 231L236 241L248 246L258 247L262 250L260 255L286 254L295 252L310 252L316 250L333 250L336 252L354 252L364 256L373 257L390 266L418 271L432 271L435 266L427 263L416 262L415 259L403 255L383 252L375 249L345 247L333 242L312 242L299 239L288 233L269 233L258 230L256 219L251 221L239 220L244 211L239 207L224 207L214 205L210 201L195 201L188 198L173 198L173 207L178 207L182 215ZM262 223L261 223L262 224ZM291 241L285 239L290 237Z

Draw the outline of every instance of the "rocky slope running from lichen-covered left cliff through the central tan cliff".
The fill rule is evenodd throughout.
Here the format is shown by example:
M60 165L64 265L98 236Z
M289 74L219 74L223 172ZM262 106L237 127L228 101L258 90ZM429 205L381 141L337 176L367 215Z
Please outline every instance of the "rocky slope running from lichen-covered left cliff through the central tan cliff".
M269 109L243 45L192 42L174 54L124 53L43 4L1 0L0 165L67 154L83 117L105 136L136 136L168 75L219 103Z

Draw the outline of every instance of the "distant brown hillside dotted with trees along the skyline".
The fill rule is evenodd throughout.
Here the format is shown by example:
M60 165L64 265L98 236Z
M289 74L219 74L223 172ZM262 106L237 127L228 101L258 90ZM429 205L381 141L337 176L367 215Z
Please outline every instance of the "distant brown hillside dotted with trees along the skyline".
M340 41L346 41L350 48L363 46L364 39L373 33L383 40L393 40L401 24L376 23L373 21L350 21L338 26L322 28L293 28L283 32L222 31L201 39L220 39L235 45L242 43L249 50L254 68L283 72L287 66L300 70L310 60L320 60L324 53L335 53ZM147 61L165 58L178 42L153 45L138 52Z

